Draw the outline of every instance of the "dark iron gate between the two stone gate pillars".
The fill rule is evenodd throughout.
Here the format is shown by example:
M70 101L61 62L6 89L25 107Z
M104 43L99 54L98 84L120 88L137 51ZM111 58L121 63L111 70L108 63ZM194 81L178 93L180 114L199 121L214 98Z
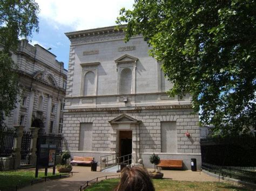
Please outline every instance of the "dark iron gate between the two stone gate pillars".
M21 165L30 164L30 145L32 134L29 131L24 131L21 144Z

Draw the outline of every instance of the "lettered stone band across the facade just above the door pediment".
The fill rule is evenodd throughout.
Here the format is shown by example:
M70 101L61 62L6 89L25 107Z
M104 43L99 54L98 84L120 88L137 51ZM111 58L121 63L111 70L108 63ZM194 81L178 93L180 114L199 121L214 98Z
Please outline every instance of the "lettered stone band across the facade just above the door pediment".
M88 112L88 111L115 111L115 112L141 112L142 110L157 110L157 109L191 109L191 105L159 105L134 107L132 110L120 110L120 108L79 108L68 109L68 112Z

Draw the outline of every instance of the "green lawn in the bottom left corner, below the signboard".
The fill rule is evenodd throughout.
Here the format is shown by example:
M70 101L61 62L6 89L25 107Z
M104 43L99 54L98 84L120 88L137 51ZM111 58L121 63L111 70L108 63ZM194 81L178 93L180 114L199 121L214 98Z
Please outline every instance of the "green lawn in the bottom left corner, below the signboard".
M48 177L54 178L59 176L59 173L52 175L48 172ZM38 178L44 177L44 172L38 172ZM35 180L35 171L0 171L0 190L13 190L18 186L18 188L24 187L31 184L31 180Z

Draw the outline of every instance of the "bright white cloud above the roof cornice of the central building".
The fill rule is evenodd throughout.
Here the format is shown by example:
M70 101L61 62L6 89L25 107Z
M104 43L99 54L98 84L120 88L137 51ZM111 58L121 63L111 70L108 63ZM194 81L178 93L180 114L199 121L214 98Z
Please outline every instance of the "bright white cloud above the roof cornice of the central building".
M73 30L115 25L122 7L132 9L133 0L36 0L39 17L48 20L55 29L60 25Z

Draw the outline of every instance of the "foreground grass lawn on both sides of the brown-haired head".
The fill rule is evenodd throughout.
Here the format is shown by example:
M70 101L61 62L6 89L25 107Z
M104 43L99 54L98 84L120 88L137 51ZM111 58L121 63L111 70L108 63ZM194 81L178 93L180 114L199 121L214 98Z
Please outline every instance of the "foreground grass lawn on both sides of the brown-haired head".
M113 190L120 179L108 179L89 186L86 190ZM168 179L153 180L156 190L253 190L232 182L189 182Z

